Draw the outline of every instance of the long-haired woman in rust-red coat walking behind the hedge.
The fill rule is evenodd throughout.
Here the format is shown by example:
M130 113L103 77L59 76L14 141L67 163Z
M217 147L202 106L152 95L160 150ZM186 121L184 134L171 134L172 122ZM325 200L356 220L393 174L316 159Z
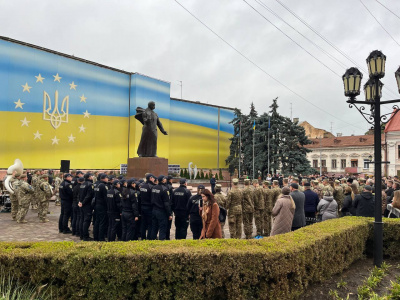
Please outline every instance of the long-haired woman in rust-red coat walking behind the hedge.
M221 239L222 231L219 223L219 206L214 195L209 190L201 193L203 207L200 208L200 215L203 219L203 230L200 239Z

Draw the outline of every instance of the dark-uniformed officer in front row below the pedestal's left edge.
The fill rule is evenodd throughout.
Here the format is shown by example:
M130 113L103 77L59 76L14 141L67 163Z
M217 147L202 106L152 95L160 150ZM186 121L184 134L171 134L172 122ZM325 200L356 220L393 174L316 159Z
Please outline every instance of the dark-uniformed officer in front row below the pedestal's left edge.
M135 180L129 179L127 181L127 189L122 192L121 222L123 241L133 241L135 239L136 222L139 220L138 195L135 188Z

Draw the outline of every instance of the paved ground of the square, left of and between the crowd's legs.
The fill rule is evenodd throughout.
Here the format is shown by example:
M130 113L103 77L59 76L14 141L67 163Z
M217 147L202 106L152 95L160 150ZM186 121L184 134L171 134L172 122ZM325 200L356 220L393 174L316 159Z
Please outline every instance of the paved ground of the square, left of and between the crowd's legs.
M18 224L12 221L10 213L0 213L0 241L76 241L79 237L71 234L62 234L58 232L58 219L60 216L60 206L50 202L50 214L47 215L50 222L40 223L36 210L30 209L26 224ZM90 227L90 231L92 226ZM228 224L224 227L225 236L229 237ZM254 231L255 234L255 231ZM92 232L90 232L92 236ZM244 237L244 235L243 235ZM188 228L188 239L193 238L190 228ZM175 239L175 226L172 222L171 239Z

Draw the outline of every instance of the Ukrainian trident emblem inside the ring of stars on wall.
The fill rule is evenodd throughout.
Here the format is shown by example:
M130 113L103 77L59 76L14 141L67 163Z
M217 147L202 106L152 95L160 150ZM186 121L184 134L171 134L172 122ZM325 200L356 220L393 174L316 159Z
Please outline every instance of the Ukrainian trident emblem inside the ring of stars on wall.
M54 96L54 107L52 110L51 98L46 91L43 92L43 120L50 121L54 129L60 127L61 123L68 123L69 96L65 96L61 102L60 110L58 108L58 91Z

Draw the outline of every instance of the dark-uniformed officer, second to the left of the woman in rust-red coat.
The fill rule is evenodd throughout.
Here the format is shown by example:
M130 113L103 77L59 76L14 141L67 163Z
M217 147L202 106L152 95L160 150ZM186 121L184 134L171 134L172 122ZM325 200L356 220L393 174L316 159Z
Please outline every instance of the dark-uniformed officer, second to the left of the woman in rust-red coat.
M186 239L189 226L187 205L192 193L187 189L186 179L179 180L180 186L172 192L172 210L175 214L175 239Z

